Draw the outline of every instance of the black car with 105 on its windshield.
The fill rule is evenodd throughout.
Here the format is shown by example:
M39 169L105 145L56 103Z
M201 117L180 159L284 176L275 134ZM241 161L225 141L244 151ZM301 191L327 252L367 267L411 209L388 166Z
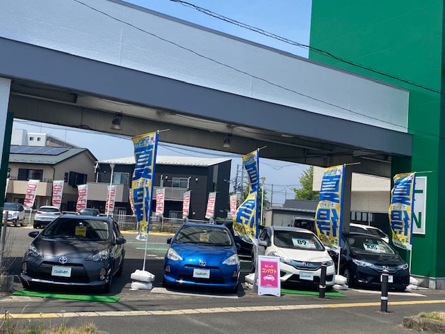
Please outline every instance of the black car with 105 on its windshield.
M337 263L338 253L331 250L330 255ZM410 270L394 248L372 234L341 234L340 274L350 287L380 289L385 268L389 271L389 289L405 290L410 284Z

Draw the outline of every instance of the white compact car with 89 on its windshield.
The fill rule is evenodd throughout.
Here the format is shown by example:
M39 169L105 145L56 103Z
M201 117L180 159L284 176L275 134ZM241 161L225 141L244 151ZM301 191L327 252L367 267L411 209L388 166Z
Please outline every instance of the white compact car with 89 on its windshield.
M335 283L335 264L314 232L303 228L268 226L259 235L258 246L252 247L252 272L257 255L280 257L280 280L291 285L320 284L321 265L326 264L326 288Z

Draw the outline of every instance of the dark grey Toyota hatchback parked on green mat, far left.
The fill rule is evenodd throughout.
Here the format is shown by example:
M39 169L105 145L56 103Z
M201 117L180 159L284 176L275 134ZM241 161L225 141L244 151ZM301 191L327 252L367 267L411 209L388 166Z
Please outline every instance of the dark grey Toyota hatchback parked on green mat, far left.
M22 261L25 288L92 287L109 292L124 266L126 240L111 217L64 214L40 233Z

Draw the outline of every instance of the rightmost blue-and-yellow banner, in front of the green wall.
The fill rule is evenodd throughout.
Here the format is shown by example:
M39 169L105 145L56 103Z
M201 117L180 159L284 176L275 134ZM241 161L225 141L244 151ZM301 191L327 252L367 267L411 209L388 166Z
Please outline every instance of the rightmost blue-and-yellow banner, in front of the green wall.
M391 204L388 210L392 242L397 247L411 250L416 173L396 174L393 180L394 187L391 190Z

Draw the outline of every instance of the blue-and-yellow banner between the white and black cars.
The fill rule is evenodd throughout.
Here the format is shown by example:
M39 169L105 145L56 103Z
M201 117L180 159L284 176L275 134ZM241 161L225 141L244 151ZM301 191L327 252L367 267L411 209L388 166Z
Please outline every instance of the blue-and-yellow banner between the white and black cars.
M345 165L339 165L325 168L315 213L318 237L337 249L341 247L345 167Z

